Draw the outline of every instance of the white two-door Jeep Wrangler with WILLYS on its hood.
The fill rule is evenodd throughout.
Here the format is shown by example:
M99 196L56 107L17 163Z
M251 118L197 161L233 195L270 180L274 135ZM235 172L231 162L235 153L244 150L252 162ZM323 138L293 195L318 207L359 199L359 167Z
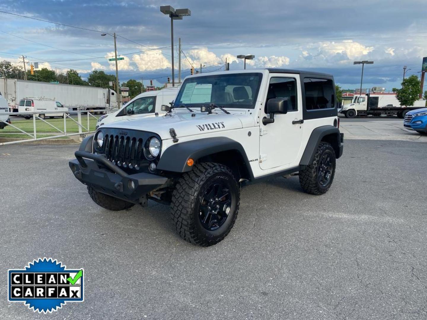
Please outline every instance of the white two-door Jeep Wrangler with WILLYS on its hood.
M305 192L328 191L343 148L336 101L324 73L189 76L166 114L103 125L69 165L99 206L170 204L179 235L209 246L234 225L240 182L299 175Z

